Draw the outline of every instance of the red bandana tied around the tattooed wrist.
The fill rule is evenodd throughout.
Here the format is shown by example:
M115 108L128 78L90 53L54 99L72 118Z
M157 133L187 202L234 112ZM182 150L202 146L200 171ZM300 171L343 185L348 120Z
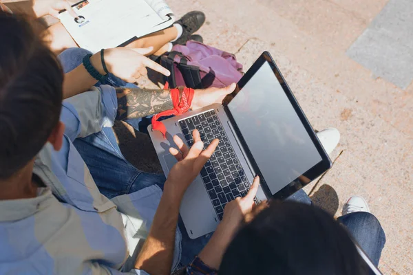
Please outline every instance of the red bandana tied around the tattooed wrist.
M165 83L164 89L168 89L168 87L169 83ZM186 113L189 110L189 108L191 108L194 90L191 88L184 87L184 91L182 91L182 96L180 100L179 89L171 89L170 92L173 103L173 109L162 111L161 113L157 113L152 117L152 129L160 131L164 138L167 134L167 128L161 121L158 121L158 119L162 116L182 115L182 113Z

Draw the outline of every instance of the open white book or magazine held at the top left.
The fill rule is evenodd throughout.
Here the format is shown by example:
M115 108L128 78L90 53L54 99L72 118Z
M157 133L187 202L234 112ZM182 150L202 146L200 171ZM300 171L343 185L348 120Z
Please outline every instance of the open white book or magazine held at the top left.
M72 5L78 17L59 14L74 41L90 52L118 47L170 27L171 8L163 0L84 0Z

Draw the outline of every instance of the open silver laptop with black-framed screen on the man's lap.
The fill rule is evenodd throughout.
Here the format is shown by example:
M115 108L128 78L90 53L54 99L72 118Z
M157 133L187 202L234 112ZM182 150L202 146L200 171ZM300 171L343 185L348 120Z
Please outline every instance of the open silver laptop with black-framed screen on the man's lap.
M163 120L167 136L149 135L165 175L176 164L169 153L173 135L192 146L193 129L205 148L220 143L185 192L180 216L191 239L213 232L226 203L244 197L255 175L255 203L286 199L331 167L313 127L268 52L264 52L222 104L212 104Z

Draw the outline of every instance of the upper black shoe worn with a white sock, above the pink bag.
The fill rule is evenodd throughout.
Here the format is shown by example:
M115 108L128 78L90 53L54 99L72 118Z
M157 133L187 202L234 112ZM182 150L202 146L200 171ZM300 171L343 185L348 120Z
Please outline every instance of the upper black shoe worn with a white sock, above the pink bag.
M184 45L185 43L187 43L187 41L191 39L191 35L199 30L204 22L204 12L193 11L185 14L183 17L181 17L181 19L175 22L182 25L183 32L180 38L177 41L173 42L173 45Z

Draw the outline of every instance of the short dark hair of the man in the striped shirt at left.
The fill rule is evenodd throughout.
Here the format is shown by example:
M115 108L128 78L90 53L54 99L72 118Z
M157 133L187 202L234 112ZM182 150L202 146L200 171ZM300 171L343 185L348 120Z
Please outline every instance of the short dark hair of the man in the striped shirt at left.
M0 179L7 179L59 122L63 72L34 20L0 12L0 26Z

